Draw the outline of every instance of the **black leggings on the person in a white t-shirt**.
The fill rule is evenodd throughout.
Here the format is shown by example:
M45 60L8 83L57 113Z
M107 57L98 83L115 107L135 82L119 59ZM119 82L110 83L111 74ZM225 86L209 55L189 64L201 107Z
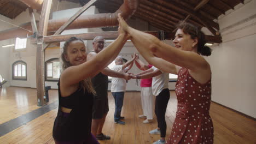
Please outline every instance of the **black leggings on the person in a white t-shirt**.
M166 135L165 112L169 99L170 91L168 88L163 89L155 98L155 115L158 118L158 128L160 128L161 137Z

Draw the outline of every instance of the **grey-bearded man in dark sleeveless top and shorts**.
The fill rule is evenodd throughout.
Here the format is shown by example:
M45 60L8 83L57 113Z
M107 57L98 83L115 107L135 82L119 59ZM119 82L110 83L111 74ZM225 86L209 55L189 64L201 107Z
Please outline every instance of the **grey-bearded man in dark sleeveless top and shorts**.
M92 41L94 51L88 54L87 59L90 60L96 56L98 52L104 48L104 38L97 36ZM114 60L114 58L113 58ZM112 61L113 61L112 60ZM92 78L92 85L95 88L96 95L94 97L94 106L92 108L92 124L91 133L96 136L97 140L110 140L110 136L102 133L102 128L105 118L109 111L108 108L108 76L120 77L125 80L130 80L130 76L125 73L118 73L108 67L104 68L100 73Z

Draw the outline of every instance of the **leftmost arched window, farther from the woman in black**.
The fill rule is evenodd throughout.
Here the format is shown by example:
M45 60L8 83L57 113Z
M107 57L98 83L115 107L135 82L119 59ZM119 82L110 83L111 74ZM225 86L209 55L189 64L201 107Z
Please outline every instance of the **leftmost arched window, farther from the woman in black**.
M13 80L27 80L27 64L23 61L13 63Z

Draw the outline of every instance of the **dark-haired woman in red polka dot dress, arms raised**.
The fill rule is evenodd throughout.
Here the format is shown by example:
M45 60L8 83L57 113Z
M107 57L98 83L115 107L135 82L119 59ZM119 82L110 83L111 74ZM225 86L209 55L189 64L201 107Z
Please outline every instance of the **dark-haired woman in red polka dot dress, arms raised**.
M180 22L173 40L174 47L153 35L137 31L119 15L120 28L141 55L156 68L178 75L176 94L178 109L171 136L159 143L213 143L211 103L211 67L202 56L210 56L205 34L187 22Z

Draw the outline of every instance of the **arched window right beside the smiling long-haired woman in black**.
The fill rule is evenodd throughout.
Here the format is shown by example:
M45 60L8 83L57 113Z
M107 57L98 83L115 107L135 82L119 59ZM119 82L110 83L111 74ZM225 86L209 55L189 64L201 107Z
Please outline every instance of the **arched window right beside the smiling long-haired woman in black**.
M51 58L45 62L45 81L58 81L60 78L60 60Z

